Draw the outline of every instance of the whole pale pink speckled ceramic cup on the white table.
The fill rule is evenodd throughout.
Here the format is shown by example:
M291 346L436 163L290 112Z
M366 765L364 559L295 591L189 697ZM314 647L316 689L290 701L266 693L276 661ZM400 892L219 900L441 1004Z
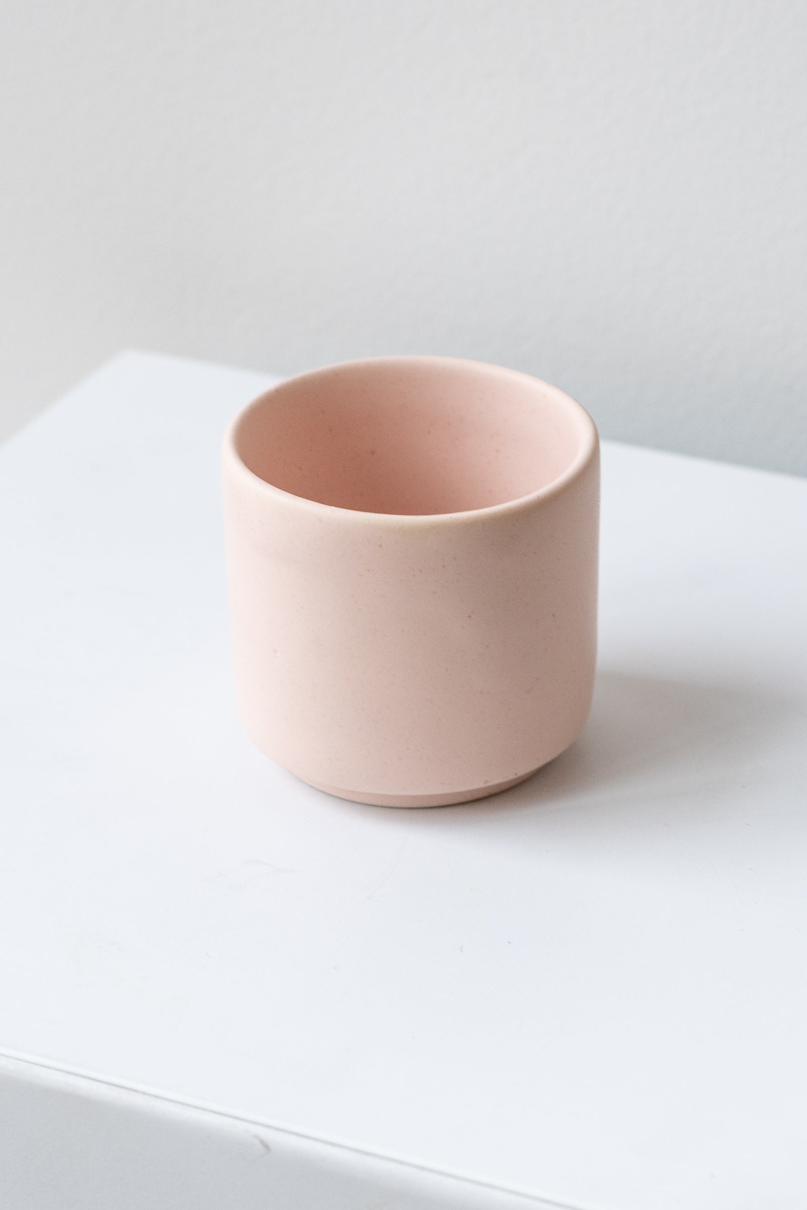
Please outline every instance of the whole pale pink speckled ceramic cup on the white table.
M463 802L580 733L599 449L569 396L448 357L315 370L236 419L224 495L241 716L302 780Z

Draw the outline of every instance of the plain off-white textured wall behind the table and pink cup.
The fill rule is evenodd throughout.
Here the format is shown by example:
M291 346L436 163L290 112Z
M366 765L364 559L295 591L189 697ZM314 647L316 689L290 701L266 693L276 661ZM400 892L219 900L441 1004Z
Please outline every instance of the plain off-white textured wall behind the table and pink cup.
M0 427L121 346L502 362L807 473L807 5L4 0Z

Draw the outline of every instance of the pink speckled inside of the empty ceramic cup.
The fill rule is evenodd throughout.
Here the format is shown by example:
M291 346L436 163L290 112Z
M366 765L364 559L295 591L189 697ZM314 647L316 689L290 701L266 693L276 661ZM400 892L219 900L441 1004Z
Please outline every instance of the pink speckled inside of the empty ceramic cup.
M235 427L241 461L295 496L369 513L488 508L549 486L590 444L573 399L451 358L352 362L289 379Z

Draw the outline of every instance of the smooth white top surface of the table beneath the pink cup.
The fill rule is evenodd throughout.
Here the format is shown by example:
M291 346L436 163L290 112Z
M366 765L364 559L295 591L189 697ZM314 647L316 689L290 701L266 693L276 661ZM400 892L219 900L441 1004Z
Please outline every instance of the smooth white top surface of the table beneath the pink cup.
M267 381L126 355L0 451L0 1048L490 1205L807 1204L807 482L606 443L582 739L363 807L235 715L218 453Z

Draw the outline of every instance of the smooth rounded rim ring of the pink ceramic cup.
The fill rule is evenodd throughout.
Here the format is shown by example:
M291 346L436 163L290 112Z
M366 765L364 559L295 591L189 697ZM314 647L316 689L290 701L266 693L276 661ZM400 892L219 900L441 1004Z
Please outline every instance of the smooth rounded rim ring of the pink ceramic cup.
M277 488L273 483L269 483L266 479L261 479L259 474L255 474L254 471L249 469L238 454L236 438L241 425L246 421L247 416L252 411L260 408L266 399L269 399L273 392L278 390L278 387L286 386L289 382L301 382L306 379L310 380L319 378L330 374L334 370L352 369L359 365L384 364L394 367L400 363L413 364L415 362L426 365L463 365L466 368L472 367L484 370L495 370L496 374L501 375L503 379L519 379L521 381L526 380L531 384L537 384L543 387L573 419L581 434L581 443L577 454L565 471L543 486L536 488L535 491L530 491L524 496L515 496L513 500L502 501L498 505L486 505L483 508L468 508L462 512L454 513L376 513L358 508L342 508L340 505L324 505L318 500L309 500L307 496L298 496L292 491L286 491L283 488ZM259 396L243 407L230 421L224 434L223 457L230 463L231 467L235 468L237 474L244 478L246 482L253 486L253 489L256 488L270 499L301 507L309 512L318 514L319 517L329 517L332 519L345 522L353 520L356 524L373 523L376 525L419 525L422 528L446 524L468 524L475 520L505 517L523 512L530 508L530 506L543 500L549 500L564 491L564 489L566 489L572 482L580 478L586 467L596 456L598 449L599 433L596 425L582 404L580 404L565 391L561 391L560 387L553 386L551 382L546 382L543 379L536 378L534 374L525 374L521 370L508 369L505 365L496 365L492 362L478 362L465 357L439 357L404 353L390 357L361 357L353 361L334 362L329 365L322 365L312 370L304 370L301 374L292 374L288 378L281 379L279 382L273 384L273 386L270 386L266 391L261 391Z

